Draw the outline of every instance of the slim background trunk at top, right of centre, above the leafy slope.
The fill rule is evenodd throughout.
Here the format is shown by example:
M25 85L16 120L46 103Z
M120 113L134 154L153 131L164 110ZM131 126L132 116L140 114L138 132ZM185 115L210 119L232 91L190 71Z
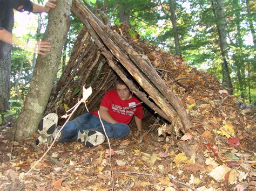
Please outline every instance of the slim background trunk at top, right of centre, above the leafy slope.
M176 0L169 0L169 6L170 6L170 13L171 13L171 21L172 21L172 31L174 35L175 53L181 56L178 27L177 27L177 20L176 20Z

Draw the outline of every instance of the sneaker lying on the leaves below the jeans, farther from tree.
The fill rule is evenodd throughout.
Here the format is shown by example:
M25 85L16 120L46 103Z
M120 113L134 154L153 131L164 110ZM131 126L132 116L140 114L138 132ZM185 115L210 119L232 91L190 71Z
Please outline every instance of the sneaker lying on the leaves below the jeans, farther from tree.
M104 143L105 136L95 130L79 130L77 135L78 142L84 142L85 146L93 147Z

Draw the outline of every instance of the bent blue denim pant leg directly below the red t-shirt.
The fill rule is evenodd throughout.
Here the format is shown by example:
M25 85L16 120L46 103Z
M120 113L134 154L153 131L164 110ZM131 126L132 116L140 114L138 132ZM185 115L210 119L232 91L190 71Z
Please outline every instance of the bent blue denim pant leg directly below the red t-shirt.
M106 135L109 138L122 139L125 136L129 135L130 133L130 127L124 123L112 124L103 120L103 124L106 131ZM96 128L96 130L105 134L101 124L98 128Z

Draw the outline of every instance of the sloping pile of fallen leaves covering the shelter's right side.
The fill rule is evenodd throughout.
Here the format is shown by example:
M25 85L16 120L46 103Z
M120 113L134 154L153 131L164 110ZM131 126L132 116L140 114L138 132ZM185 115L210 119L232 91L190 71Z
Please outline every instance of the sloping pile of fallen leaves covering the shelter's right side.
M147 56L191 116L193 128L177 144L181 153L174 158L177 167L183 165L192 172L200 171L191 174L190 184L197 185L203 174L207 174L220 186L230 184L232 189L245 188L250 182L255 185L255 114L246 115L237 106L237 96L228 95L215 76L187 66L179 56L139 41L138 34L134 35L127 26L115 30L142 56ZM174 129L164 126L159 131L177 134L174 131L180 128L181 125L175 129L174 124ZM200 166L203 171L198 165L203 165Z

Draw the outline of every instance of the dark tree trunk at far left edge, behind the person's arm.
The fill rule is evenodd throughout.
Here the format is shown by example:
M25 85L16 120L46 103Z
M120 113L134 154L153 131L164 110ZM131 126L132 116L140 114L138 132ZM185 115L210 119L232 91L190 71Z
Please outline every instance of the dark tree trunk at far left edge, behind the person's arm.
M4 28L12 32L14 12L6 12ZM9 109L11 76L11 45L0 41L0 113Z

